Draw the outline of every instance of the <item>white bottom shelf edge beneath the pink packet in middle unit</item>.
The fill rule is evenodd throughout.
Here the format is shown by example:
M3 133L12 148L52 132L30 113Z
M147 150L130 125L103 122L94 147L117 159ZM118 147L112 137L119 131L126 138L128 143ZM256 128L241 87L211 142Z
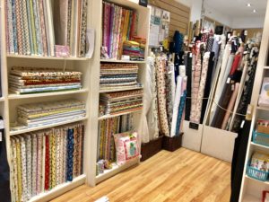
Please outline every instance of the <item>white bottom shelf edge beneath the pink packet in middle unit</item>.
M95 177L96 183L100 183L103 180L107 180L108 178L116 175L117 173L124 171L131 166L138 164L140 162L140 157L134 158L133 160L130 160L129 162L126 162L126 164L123 164L121 166L115 165L112 169L106 170L104 173L99 174Z

